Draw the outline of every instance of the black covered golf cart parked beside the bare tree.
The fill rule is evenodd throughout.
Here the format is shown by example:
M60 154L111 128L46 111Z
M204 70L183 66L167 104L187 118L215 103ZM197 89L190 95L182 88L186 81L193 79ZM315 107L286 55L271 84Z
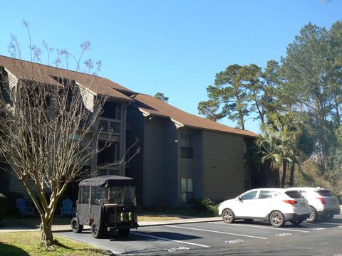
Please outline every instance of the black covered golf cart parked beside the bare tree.
M111 231L127 236L131 228L138 228L133 178L95 176L78 186L76 217L71 220L74 233L81 233L83 225L90 226L94 238Z

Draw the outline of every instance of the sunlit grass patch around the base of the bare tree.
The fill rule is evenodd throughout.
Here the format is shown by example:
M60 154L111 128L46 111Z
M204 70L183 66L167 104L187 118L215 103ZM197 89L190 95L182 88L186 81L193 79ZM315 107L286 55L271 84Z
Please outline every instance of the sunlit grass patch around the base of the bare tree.
M61 237L57 245L53 245L53 250L48 250L40 246L39 232L12 232L0 233L0 255L103 255L104 251L81 242L74 242Z

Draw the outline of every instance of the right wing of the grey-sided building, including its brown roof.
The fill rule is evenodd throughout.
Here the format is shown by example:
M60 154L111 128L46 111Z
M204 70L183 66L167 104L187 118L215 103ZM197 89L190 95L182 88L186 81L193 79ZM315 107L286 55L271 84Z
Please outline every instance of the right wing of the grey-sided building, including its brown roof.
M142 154L126 174L135 178L144 205L219 201L251 186L248 144L257 135L209 121L137 94L128 108L128 141L142 138Z

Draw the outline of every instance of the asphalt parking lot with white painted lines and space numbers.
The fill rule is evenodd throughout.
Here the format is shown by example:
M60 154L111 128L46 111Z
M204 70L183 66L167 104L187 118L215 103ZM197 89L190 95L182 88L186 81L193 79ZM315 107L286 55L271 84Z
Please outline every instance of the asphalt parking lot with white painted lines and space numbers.
M215 221L140 227L127 238L110 235L94 239L90 230L56 235L115 255L342 255L341 215L330 222L286 223L284 228L258 220L232 224Z

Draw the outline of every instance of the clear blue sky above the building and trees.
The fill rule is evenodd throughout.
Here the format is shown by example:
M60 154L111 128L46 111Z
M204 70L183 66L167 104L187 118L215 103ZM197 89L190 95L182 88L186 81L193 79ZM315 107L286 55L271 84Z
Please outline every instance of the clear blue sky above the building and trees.
M9 55L14 33L29 60L23 18L37 46L44 40L77 56L90 41L86 58L102 60L98 75L137 92L163 92L171 105L197 114L216 73L279 60L306 23L330 28L342 19L342 1L3 1L1 55ZM249 120L246 129L258 132L259 124Z

